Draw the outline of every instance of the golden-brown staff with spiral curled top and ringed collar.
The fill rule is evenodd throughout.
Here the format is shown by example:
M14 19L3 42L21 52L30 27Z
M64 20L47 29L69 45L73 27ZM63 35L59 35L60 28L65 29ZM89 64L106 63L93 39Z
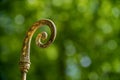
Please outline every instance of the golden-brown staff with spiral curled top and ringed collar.
M54 39L56 37L55 24L51 20L48 20L48 19L40 20L40 21L36 22L28 30L26 37L24 39L22 53L20 56L20 70L21 70L21 74L22 74L22 80L26 80L26 74L30 68L30 44L31 44L32 36L38 28L40 28L44 25L47 25L50 28L50 31L51 31L50 38L46 43L42 43L41 39L42 40L47 39L47 33L42 32L42 33L38 34L36 37L36 45L38 45L39 47L42 47L42 48L46 48L54 41Z

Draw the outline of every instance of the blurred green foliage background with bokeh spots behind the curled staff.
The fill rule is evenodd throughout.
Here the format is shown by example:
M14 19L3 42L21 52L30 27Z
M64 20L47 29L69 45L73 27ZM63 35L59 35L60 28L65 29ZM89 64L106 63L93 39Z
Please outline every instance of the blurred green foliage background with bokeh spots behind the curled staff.
M25 34L45 18L57 37L42 49L35 37L48 28L36 32L28 80L120 80L120 0L0 0L0 80L20 80Z

